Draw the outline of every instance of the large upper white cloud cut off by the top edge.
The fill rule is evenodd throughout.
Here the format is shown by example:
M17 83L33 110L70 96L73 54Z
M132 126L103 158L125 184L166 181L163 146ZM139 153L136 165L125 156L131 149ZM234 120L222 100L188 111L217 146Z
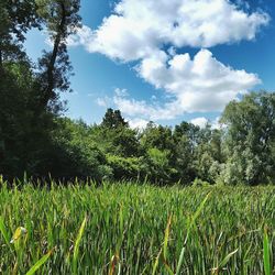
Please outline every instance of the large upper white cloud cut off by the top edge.
M173 45L174 52L174 47L250 41L268 21L266 13L248 13L229 0L121 0L97 30L85 26L70 44L129 62L163 45Z

